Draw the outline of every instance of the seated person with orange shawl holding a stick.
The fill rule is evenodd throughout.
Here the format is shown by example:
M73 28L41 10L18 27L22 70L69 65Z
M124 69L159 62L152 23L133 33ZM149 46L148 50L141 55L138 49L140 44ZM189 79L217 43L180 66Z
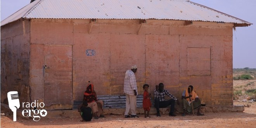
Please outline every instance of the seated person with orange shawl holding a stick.
M189 85L189 87L183 91L182 93L182 107L183 107L183 114L182 116L185 116L185 113L191 113L193 112L194 115L194 109L197 109L197 116L203 116L204 114L200 113L201 109L201 101L199 100L199 97L193 90L193 86Z

